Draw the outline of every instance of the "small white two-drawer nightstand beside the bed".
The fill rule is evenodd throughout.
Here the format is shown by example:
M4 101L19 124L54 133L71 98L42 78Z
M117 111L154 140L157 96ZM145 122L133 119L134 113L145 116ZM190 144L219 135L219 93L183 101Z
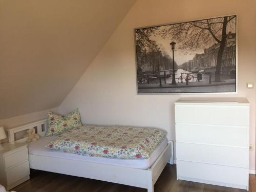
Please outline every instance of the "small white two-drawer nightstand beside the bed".
M4 145L0 151L0 184L7 190L29 180L28 147L25 143Z

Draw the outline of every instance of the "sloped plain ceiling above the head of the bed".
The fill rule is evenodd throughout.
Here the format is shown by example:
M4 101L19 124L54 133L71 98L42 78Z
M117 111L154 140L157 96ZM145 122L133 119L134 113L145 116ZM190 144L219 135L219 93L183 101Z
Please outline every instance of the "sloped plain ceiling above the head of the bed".
M0 119L58 106L135 1L0 1Z

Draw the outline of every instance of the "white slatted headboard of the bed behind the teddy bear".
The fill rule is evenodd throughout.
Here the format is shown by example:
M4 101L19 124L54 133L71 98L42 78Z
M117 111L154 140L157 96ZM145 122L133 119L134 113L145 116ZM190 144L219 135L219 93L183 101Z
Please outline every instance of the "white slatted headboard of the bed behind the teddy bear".
M15 134L31 128L35 128L36 133L39 136L45 136L45 133L48 129L47 119L34 121L28 124L24 124L24 125L20 125L20 126L16 126L11 129L8 129L7 132L8 132L9 143L25 142L26 138L15 140Z

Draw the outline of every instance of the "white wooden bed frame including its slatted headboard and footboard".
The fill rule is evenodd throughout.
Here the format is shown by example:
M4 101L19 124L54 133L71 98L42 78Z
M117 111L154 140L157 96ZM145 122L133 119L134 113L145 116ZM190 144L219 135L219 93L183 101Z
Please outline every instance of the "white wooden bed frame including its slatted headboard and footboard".
M15 134L32 127L35 127L38 135L45 136L47 120L9 129L9 142L26 142L26 139L15 139ZM168 141L161 155L148 169L29 154L29 166L33 169L147 188L148 192L154 192L154 184L167 163L174 164L173 141Z

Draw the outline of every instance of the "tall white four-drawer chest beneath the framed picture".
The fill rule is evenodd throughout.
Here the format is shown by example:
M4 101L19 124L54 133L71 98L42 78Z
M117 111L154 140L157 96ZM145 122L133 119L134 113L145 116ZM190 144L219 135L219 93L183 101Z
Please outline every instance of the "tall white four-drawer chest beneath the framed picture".
M175 102L177 179L249 190L249 102Z

